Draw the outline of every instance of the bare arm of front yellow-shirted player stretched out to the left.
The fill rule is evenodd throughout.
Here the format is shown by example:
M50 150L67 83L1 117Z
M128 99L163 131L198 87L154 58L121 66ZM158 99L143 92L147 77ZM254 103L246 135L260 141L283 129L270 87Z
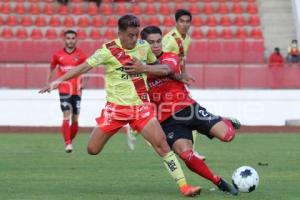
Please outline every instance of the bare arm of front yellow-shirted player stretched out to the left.
M87 62L84 62L74 69L70 70L63 76L57 78L56 80L52 81L51 83L47 84L43 89L39 91L39 93L50 92L58 87L58 85L64 81L67 81L73 77L79 76L90 71L93 67L91 67Z

